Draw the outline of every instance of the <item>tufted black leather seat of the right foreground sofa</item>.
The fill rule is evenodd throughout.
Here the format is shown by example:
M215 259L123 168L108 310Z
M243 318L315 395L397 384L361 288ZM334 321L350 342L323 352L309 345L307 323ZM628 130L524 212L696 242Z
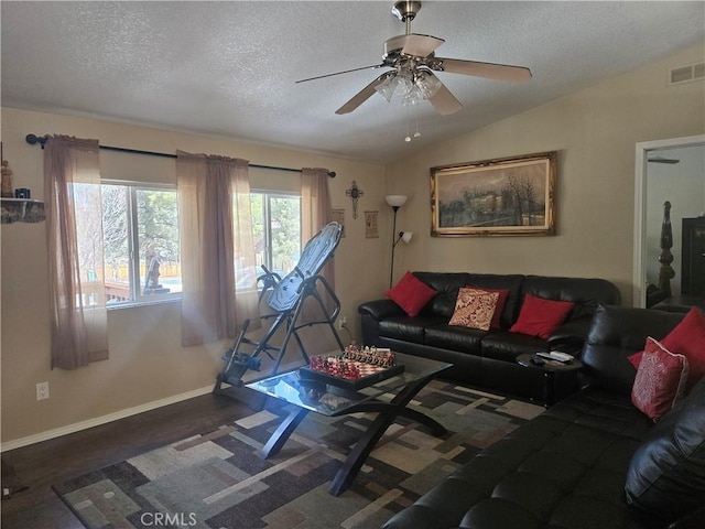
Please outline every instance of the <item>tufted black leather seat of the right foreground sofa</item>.
M628 397L588 388L482 450L383 527L654 527L623 494L650 427Z

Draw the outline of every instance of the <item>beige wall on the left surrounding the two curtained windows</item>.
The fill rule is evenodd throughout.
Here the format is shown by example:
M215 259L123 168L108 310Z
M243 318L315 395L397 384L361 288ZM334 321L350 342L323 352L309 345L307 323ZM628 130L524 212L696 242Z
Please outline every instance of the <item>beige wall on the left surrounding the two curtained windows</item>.
M356 328L357 305L382 291L383 260L369 259L387 249L388 240L365 238L364 210L380 212L387 234L390 214L383 202L379 164L324 156L314 152L203 138L86 118L2 108L3 154L14 172L14 187L30 187L43 197L42 150L24 141L28 133L64 133L97 138L102 144L160 152L207 152L238 156L252 163L336 171L330 181L334 207L346 209L346 237L336 251L337 294L341 314ZM101 151L106 176L174 182L174 161ZM269 177L290 185L296 173L252 170L253 180ZM365 195L354 220L345 196L356 180ZM268 186L267 183L263 184ZM391 228L390 228L391 229ZM45 224L2 225L2 447L43 439L105 415L137 411L154 403L203 392L213 386L229 343L182 348L180 304L111 310L108 315L110 359L66 371L50 369L50 335ZM347 335L341 334L344 342ZM36 401L35 385L50 382L48 400ZM63 430L62 430L63 429Z

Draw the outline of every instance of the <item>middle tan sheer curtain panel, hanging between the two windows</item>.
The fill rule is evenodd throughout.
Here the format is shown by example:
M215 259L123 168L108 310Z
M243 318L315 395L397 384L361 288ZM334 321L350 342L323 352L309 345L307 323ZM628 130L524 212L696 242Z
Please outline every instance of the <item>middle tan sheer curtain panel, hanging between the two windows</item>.
M178 152L176 174L182 343L234 338L259 317L248 161Z

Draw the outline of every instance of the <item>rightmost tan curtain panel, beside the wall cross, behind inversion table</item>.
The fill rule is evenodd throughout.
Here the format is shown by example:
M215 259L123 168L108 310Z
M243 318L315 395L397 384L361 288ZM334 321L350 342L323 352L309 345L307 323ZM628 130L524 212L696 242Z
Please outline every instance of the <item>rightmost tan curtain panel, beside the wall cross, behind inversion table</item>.
M327 169L304 168L301 172L301 241L305 245L326 224L333 220ZM303 249L303 248L302 248ZM333 259L321 270L321 276L335 289Z

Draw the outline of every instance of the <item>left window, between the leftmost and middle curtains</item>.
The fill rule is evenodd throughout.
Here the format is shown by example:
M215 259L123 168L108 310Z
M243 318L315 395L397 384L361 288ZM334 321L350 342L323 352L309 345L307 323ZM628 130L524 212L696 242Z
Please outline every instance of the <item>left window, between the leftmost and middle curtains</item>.
M182 282L176 190L110 183L101 191L108 306L177 298Z

